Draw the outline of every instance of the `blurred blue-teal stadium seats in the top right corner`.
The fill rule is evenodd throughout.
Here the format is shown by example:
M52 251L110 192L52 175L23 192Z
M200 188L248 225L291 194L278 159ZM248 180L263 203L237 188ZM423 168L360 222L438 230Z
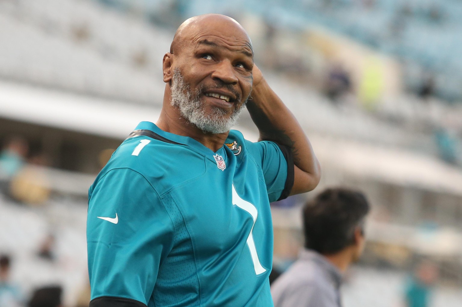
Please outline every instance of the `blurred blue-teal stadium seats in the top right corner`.
M410 87L417 88L422 71L430 71L437 76L441 96L460 99L462 43L457 37L462 30L462 6L457 1L377 0L366 5L366 1L332 0L324 1L324 6L312 0L274 2L283 8L280 14L292 20L321 24L383 53L418 63L419 73L406 70Z

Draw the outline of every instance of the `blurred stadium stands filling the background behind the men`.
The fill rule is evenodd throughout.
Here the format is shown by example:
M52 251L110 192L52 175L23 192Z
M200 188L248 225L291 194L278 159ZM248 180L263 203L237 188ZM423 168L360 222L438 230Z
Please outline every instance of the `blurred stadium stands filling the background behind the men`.
M322 164L315 191L272 204L274 269L297 257L304 201L344 185L373 207L344 305L404 306L426 260L430 306L461 306L458 0L0 0L0 254L24 301L59 284L65 306L88 306L87 189L138 122L157 120L163 54L207 12L248 30ZM256 140L248 115L237 129Z

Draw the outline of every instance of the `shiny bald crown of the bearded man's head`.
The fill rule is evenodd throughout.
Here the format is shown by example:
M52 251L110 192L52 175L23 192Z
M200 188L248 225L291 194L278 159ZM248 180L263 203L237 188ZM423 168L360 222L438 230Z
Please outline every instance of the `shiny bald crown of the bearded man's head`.
M195 42L204 35L219 35L231 42L243 42L253 53L252 43L244 28L233 18L221 14L204 14L184 21L176 30L170 53L181 52L185 44Z

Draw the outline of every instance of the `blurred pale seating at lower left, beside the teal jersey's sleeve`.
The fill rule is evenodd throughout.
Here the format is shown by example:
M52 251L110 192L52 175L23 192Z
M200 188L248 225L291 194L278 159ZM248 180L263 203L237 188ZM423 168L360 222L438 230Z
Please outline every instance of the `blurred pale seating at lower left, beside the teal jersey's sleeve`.
M66 306L73 306L86 273L85 201L55 198L45 208L19 205L0 194L0 252L12 257L12 280L28 297L36 287L61 284ZM37 256L40 243L55 235L55 261ZM33 272L33 273L31 273Z

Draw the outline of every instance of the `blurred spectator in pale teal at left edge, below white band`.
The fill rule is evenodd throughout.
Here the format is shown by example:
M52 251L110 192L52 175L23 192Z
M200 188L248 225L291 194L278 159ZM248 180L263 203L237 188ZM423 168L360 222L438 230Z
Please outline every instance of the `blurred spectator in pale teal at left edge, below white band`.
M13 177L25 164L29 146L24 138L12 136L5 141L0 152L0 175Z

